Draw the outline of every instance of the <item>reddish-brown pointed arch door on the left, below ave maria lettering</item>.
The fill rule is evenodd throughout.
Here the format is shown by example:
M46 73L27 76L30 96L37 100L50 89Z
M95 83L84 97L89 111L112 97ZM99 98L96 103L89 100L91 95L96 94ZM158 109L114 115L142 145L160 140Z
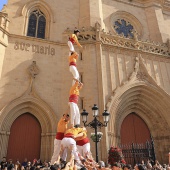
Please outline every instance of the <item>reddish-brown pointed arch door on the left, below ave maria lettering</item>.
M35 116L24 113L12 124L7 149L7 158L20 162L27 158L40 158L41 126Z

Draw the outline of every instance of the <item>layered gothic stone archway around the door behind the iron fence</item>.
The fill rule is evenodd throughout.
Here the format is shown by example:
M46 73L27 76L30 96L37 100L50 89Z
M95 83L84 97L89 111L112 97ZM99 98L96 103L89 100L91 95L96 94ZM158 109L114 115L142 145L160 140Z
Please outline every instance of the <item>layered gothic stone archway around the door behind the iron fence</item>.
M140 81L121 87L107 105L111 114L108 145L120 144L122 122L128 114L135 112L146 122L153 136L157 158L161 162L166 161L170 133L169 106L169 96L149 83Z

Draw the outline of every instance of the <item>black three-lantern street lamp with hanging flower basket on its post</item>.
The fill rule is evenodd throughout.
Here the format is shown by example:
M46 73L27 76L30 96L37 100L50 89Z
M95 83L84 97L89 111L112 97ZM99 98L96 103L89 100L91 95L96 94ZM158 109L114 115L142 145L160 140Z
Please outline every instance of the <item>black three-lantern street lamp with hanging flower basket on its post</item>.
M95 142L95 147L96 147L96 162L98 162L98 149L97 149L97 143L100 141L101 139L101 135L97 138L98 133L97 133L97 127L101 128L101 127L107 127L107 124L109 122L109 116L110 114L107 112L107 110L104 110L104 113L102 114L103 116L103 120L104 123L100 122L99 120L97 120L98 117L98 107L96 104L94 104L94 106L92 107L92 111L93 111L93 117L94 119L88 123L87 123L87 116L88 116L88 112L86 112L86 110L83 110L83 112L81 113L82 116L82 120L84 123L85 127L91 127L95 130L95 138L93 138L93 141Z

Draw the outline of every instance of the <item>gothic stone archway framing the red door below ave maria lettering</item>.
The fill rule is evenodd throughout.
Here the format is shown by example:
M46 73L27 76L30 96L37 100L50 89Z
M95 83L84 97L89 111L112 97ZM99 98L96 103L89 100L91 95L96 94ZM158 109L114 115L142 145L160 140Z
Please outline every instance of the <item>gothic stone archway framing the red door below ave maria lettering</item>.
M53 148L53 140L56 133L56 115L50 107L40 98L22 96L12 101L0 115L0 156L7 154L10 128L13 122L23 113L32 113L40 122L41 133L41 159L50 160Z

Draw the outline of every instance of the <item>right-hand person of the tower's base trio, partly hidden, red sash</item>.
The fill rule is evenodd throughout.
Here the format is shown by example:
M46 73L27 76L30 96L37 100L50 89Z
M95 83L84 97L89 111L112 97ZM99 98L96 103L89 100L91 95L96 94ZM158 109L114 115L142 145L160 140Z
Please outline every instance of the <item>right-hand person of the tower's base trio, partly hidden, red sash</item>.
M77 149L83 157L86 157L88 153L90 152L90 141L87 137L87 131L82 132L81 137L77 137L76 140L76 145Z

